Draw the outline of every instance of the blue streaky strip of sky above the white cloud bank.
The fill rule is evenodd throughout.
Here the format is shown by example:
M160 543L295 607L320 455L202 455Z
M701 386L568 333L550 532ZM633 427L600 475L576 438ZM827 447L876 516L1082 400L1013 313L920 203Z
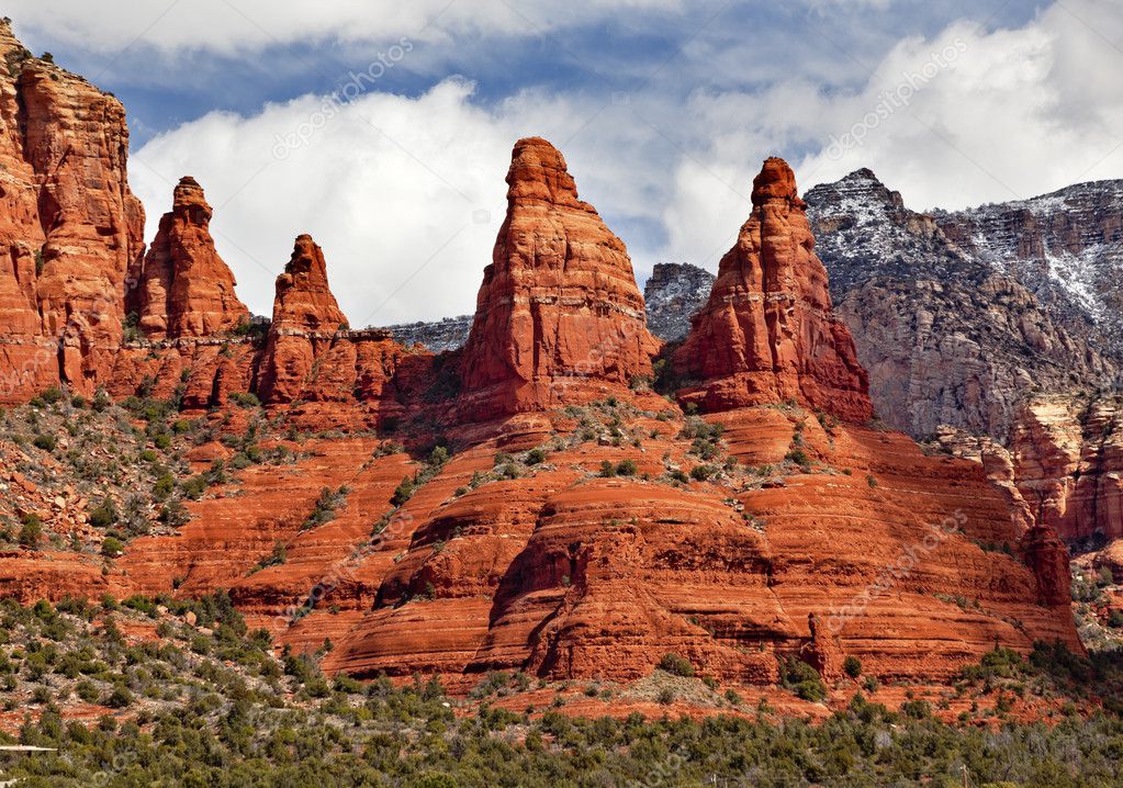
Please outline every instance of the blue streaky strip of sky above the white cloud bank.
M217 18L201 27L201 40L170 47L159 38L159 28L176 24L174 16L164 15L179 8L172 0L110 2L129 9L126 18L133 25L108 40L60 30L54 13L43 15L42 21L36 15L25 25L21 4L16 2L12 13L24 43L37 54L54 53L61 64L117 94L129 110L134 144L139 146L212 110L248 114L265 102L330 93L396 40L375 36L348 42L330 33L302 39L274 28L267 15L249 21L250 12L237 10L237 3L217 3ZM382 90L418 95L457 74L477 83L475 99L482 103L502 101L527 88L590 93L658 88L684 98L696 90L751 90L793 73L819 81L824 90L847 89L860 85L903 38L931 37L960 19L988 29L1017 27L1044 4L711 0L683 3L682 11L623 9L555 29L533 9L519 10L520 3L512 0L509 13L524 26L523 31L420 43L418 57L389 72ZM439 20L444 4L436 8L431 16ZM236 52L208 48L206 27L223 24L261 25L261 46ZM410 37L408 31L403 35ZM741 67L713 68L712 53L723 65L739 62Z

